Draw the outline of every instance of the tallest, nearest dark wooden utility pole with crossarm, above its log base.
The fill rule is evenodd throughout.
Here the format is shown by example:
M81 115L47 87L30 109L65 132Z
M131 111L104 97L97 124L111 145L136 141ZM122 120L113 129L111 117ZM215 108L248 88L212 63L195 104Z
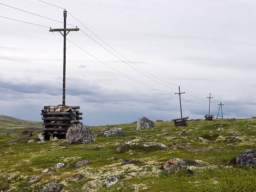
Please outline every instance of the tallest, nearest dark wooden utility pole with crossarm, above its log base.
M50 29L49 31L58 31L64 37L64 48L63 48L63 91L62 91L62 105L66 102L66 36L70 31L79 31L79 28L66 28L67 26L67 11L64 10L64 28L62 29ZM68 32L67 32L68 31Z

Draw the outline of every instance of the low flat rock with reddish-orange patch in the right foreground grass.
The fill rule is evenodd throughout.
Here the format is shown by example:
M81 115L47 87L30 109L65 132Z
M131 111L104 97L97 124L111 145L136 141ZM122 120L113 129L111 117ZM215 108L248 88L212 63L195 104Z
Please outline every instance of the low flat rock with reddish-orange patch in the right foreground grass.
M179 172L182 169L187 169L189 166L195 167L204 167L206 166L205 162L194 160L194 159L178 159L172 158L169 159L163 166L164 171L166 172Z

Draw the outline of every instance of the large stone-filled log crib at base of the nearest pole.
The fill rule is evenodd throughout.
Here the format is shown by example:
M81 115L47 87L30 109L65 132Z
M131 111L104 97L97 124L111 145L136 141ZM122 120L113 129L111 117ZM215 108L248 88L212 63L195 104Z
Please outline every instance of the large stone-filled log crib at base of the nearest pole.
M51 140L53 137L59 139L66 138L67 129L75 124L83 124L80 122L82 117L79 112L80 106L57 105L57 106L44 106L41 110L43 115L42 123L46 130L44 131L45 140Z

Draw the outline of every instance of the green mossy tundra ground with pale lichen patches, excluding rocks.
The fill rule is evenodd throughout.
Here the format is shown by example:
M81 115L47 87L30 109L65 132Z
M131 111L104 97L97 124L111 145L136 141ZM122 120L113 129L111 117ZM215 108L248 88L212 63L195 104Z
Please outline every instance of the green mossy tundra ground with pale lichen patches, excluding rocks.
M27 143L31 138L18 141L15 145L5 143L19 137L24 130L42 128L40 124L0 116L0 191L37 191L49 182L60 183L65 191L256 190L256 170L238 168L233 161L244 149L256 150L255 119L189 121L188 127L174 127L171 121L156 122L156 128L136 130L140 135L132 133L137 124L120 124L115 127L123 128L127 137L96 137L97 142L85 145L69 145L66 140ZM224 130L217 130L220 125ZM90 129L97 135L108 127ZM163 129L171 136L163 136ZM173 139L181 131L188 131L188 134ZM6 133L11 133L11 136L6 136ZM197 137L205 138L205 141L198 141ZM239 137L242 142L227 144L227 139L231 137ZM132 147L125 148L121 153L114 152L119 146L115 142L140 143L141 138L154 139L150 143L163 143L169 150L147 151ZM174 147L171 143L179 146ZM103 146L106 150L92 149L95 146ZM129 155L131 153L133 155ZM192 175L186 174L185 170L177 174L165 172L163 164L171 158L202 160L209 166L194 170ZM125 159L136 160L137 163L122 165ZM77 161L82 160L92 162L82 168L73 168ZM59 162L65 166L51 169L52 174L41 174L42 170L50 169ZM40 179L35 183L26 183L27 179L38 176ZM113 176L118 177L118 183L103 187L105 180Z

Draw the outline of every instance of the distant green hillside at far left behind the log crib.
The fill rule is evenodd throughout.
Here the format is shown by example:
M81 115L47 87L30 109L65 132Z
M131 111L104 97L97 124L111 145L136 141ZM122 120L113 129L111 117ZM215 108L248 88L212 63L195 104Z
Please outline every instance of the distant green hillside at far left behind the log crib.
M30 120L21 120L5 115L0 115L0 134L17 134L21 135L22 131L25 130L39 130L43 128L41 122L35 122Z

